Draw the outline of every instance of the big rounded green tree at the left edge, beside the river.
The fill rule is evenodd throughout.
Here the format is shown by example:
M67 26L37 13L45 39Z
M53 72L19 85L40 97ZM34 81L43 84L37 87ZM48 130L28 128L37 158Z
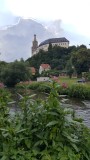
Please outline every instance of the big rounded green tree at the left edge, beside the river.
M27 65L22 60L9 63L3 68L1 73L3 83L10 87L13 87L20 81L29 80L30 75L30 70L28 70Z

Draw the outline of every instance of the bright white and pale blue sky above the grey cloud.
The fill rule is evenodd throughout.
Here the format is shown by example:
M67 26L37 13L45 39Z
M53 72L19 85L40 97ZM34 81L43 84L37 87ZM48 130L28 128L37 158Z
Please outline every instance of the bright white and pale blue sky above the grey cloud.
M68 31L90 38L90 0L0 0L0 26L13 23L13 15L61 19Z

